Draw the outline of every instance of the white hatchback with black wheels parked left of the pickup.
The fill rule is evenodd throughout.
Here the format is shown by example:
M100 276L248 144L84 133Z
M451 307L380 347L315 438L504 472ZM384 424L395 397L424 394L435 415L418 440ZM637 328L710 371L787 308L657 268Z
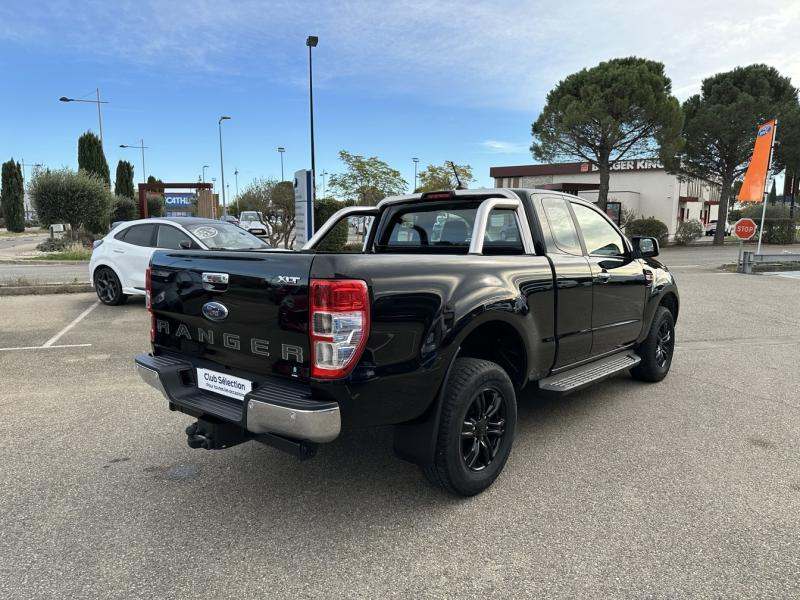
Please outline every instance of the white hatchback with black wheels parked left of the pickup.
M94 243L89 281L103 304L144 296L145 271L156 249L261 250L269 245L225 221L166 217L125 221Z

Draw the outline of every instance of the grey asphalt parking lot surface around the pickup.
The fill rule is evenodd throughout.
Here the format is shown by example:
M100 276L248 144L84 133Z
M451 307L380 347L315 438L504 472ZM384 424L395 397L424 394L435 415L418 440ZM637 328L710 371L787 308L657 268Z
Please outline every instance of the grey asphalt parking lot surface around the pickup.
M675 262L668 378L523 396L471 499L389 429L191 450L141 300L0 297L0 597L798 597L800 281Z

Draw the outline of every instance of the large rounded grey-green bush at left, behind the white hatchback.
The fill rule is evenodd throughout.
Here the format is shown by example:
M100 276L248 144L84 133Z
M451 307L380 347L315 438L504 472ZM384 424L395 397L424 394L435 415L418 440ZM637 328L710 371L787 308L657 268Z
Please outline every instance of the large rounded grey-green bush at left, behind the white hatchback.
M111 193L105 180L87 171L39 171L29 188L43 227L66 223L73 232L99 232L108 227Z

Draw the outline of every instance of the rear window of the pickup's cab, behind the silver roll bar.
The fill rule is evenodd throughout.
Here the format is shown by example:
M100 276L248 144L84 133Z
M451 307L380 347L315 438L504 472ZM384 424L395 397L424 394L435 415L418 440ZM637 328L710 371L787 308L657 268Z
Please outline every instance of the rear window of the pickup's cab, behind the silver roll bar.
M480 202L404 207L389 216L377 240L381 252L466 254ZM484 254L523 254L516 214L497 209L489 215Z

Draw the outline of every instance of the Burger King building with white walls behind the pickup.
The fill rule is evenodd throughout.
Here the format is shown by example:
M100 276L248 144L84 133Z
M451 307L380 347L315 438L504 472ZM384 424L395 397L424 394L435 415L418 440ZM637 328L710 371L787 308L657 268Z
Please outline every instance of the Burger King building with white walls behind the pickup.
M588 162L491 167L489 174L496 187L556 190L591 202L600 189L600 173ZM682 221L716 219L719 196L719 184L667 173L658 160L618 160L611 164L607 211L617 223L622 209L634 218L655 217L672 237Z

